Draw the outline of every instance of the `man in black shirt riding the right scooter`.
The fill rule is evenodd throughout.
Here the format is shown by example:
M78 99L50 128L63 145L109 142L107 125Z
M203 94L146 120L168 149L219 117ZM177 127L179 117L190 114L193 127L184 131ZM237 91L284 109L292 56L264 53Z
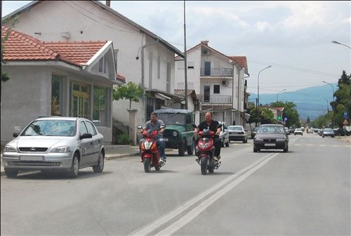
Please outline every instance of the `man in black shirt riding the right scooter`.
M197 128L194 129L194 133L198 133L199 131L203 131L207 127L209 127L210 131L215 132L216 135L219 136L220 131L222 131L221 126L218 127L220 124L219 122L212 119L211 112L206 112L205 114L205 121L201 122ZM222 141L219 139L218 136L213 138L213 145L215 146L215 153L213 159L218 161L220 159L220 147L222 147ZM199 142L199 138L196 140L196 145ZM199 163L199 158L196 159L197 163Z

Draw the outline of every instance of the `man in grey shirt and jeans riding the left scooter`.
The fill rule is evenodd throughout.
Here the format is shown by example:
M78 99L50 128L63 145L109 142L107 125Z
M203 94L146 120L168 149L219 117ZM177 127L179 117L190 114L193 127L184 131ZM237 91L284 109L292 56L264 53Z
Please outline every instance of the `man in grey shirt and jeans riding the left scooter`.
M164 133L164 128L161 129L161 126L164 126L164 122L161 121L161 119L157 119L157 113L152 112L151 113L151 119L150 121L146 122L143 130L148 131L150 130L150 132L152 131L159 131L159 133ZM160 151L160 159L159 159L159 163L163 163L166 162L166 154L164 152L164 150L166 149L166 143L164 143L164 139L162 138L162 134L159 134L157 136L157 146L159 147L159 151Z

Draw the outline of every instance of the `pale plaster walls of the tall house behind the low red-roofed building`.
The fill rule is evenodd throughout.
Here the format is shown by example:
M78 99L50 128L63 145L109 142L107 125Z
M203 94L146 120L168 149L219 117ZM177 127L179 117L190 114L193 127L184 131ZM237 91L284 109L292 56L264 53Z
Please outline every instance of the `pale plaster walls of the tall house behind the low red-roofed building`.
M142 83L141 46L151 44L151 39L140 29L121 20L113 13L100 8L92 1L43 1L29 11L24 11L15 29L36 37L42 41L105 41L113 42L115 56L117 55L117 72L126 77L126 82ZM162 44L145 47L144 81L149 86L150 51L152 51L152 89L166 91L166 65L171 65L171 86L174 89L174 53ZM161 58L161 78L157 79L157 60ZM136 60L136 57L139 57ZM151 88L150 88L151 89ZM132 109L137 109L137 124L145 123L145 100L139 103L132 102ZM128 100L113 102L113 119L128 126Z

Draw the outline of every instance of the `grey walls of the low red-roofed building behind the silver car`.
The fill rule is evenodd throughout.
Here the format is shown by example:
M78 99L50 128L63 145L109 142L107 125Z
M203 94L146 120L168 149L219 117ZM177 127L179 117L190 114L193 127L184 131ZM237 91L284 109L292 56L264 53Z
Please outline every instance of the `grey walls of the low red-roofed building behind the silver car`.
M69 81L80 81L91 86L110 87L103 81L96 81L84 74L78 74L61 67L34 65L1 65L11 79L1 84L1 144L13 139L13 132L22 131L33 119L51 115L52 74L65 77L62 116L69 116ZM25 77L23 76L25 74ZM112 99L110 98L110 104ZM112 114L110 114L112 120ZM112 142L112 122L109 126L97 126L104 136L105 143Z

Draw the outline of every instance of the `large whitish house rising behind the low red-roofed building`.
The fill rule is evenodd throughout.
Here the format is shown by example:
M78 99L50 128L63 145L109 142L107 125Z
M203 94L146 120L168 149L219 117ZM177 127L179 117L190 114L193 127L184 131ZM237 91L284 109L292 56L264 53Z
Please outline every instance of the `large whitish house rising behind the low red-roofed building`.
M143 86L147 95L131 103L137 124L147 122L156 109L183 104L174 93L174 58L183 53L104 3L31 1L4 18L17 17L15 28L41 41L112 41L118 74ZM135 133L127 112L129 101L114 100L112 107L114 128Z

